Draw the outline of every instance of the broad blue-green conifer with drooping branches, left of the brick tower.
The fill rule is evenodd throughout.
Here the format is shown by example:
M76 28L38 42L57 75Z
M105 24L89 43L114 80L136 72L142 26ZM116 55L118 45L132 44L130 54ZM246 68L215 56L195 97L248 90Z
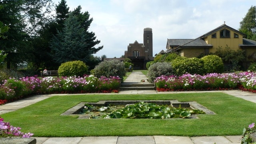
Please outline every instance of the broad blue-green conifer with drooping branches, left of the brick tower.
M80 9L80 6L77 9ZM91 54L103 48L103 46L94 47L100 43L100 40L96 40L94 32L88 32L92 21L89 16L88 12L77 11L76 14L72 12L64 23L63 31L58 31L57 36L54 36L50 47L53 51L52 58L57 63L73 60L88 62Z

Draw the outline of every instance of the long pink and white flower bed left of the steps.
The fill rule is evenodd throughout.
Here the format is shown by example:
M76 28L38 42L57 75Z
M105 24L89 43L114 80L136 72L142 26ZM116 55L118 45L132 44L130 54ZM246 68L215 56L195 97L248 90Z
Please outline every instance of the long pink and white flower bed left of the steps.
M33 76L23 77L19 80L10 78L0 84L0 104L32 94L118 92L120 85L121 79L118 76L110 78L97 78L92 75L62 78Z

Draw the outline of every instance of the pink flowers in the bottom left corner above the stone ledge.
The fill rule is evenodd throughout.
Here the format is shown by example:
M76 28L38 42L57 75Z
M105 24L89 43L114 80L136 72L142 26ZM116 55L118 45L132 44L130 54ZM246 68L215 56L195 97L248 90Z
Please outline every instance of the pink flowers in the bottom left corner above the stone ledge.
M10 138L10 137L20 137L20 138L30 138L34 134L28 132L20 132L19 127L10 126L9 122L4 122L4 119L0 117L0 137Z

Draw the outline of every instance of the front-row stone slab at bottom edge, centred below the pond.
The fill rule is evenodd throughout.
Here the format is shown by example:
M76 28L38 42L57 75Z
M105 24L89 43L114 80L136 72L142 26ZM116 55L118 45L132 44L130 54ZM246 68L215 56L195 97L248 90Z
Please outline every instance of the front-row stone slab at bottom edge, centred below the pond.
M116 144L155 144L154 136L120 136Z

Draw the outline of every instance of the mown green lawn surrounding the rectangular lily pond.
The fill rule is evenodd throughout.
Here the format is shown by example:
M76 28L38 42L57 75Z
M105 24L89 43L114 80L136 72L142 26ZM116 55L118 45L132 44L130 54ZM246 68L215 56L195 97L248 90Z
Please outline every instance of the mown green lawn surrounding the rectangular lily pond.
M60 116L80 102L98 100L196 101L216 113L198 119L76 119ZM196 94L53 96L25 108L2 114L5 122L32 132L36 137L79 136L225 136L242 135L255 122L256 104L221 92Z

